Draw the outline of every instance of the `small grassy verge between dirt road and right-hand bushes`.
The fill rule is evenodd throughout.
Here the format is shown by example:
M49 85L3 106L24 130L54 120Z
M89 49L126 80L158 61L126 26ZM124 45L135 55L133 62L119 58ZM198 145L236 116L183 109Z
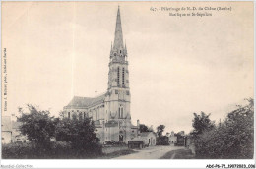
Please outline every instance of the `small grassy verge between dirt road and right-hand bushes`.
M195 155L190 149L178 149L167 152L160 159L195 159Z

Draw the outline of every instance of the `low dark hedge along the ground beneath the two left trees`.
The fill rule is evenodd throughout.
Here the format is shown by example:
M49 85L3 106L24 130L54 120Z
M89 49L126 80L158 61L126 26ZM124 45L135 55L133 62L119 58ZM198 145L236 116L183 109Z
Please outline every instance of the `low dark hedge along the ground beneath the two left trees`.
M94 158L102 154L102 147L95 144L87 151L78 152L71 143L54 141L45 148L38 148L34 142L9 143L2 145L3 159L69 159Z

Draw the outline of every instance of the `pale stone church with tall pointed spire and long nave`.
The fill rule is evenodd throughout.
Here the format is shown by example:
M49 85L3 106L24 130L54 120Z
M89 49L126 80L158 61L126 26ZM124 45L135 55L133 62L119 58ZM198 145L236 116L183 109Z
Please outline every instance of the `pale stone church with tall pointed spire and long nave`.
M91 117L96 137L105 141L129 141L138 137L138 128L131 123L131 93L129 87L128 53L123 43L120 9L118 7L114 43L108 64L107 91L96 97L74 96L64 107L64 118L74 114L80 119ZM99 68L98 68L99 69Z

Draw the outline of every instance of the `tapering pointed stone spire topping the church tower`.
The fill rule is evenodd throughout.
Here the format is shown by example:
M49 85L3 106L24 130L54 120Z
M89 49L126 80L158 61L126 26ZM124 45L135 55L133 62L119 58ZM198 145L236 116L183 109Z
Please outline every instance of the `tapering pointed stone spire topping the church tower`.
M121 16L120 16L120 8L118 6L117 17L116 17L116 26L114 33L114 50L123 49L123 32L121 25Z

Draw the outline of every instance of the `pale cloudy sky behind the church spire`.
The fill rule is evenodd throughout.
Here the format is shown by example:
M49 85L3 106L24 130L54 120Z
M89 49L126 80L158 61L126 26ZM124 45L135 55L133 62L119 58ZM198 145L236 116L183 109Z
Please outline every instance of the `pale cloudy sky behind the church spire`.
M134 124L188 133L194 112L218 122L254 96L253 2L2 2L3 115L29 103L58 116L74 95L105 92L118 5ZM171 17L151 7L231 11Z

